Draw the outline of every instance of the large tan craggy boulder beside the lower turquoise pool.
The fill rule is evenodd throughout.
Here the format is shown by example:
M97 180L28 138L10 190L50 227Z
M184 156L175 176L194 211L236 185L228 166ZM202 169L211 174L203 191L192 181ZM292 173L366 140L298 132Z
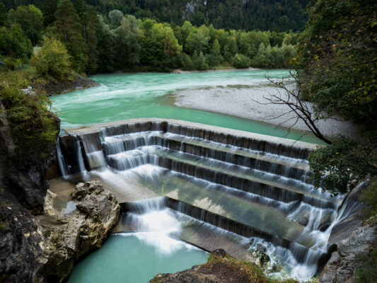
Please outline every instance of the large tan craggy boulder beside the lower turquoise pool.
M47 262L40 273L47 282L64 282L74 262L100 248L120 218L120 205L98 181L79 183L71 199L74 212L55 214L57 224L42 224Z

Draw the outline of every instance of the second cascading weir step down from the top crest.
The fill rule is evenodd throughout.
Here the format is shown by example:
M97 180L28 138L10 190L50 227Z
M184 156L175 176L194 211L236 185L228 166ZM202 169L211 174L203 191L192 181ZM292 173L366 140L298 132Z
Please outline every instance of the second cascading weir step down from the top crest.
M287 178L301 180L310 175L308 161L298 158L266 154L261 151L242 149L214 141L199 138L187 138L178 134L164 132L140 132L105 137L103 149L105 155L117 154L120 151L137 149L140 146L163 146L167 149L195 154L204 158L231 162L269 173L284 175Z

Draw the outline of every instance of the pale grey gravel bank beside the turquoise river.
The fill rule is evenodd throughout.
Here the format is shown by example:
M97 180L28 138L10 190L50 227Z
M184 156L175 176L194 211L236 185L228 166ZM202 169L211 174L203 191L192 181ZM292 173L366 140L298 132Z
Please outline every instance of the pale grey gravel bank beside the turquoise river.
M291 112L287 105L267 104L266 98L274 94L279 94L279 90L265 83L264 85L186 89L173 93L171 97L174 99L174 105L178 107L211 111L307 131L308 127L305 123L297 120L296 114ZM311 103L307 105L309 109L313 109ZM333 118L316 123L325 136L333 137L342 134L356 137L357 127L352 122L342 121L338 116Z

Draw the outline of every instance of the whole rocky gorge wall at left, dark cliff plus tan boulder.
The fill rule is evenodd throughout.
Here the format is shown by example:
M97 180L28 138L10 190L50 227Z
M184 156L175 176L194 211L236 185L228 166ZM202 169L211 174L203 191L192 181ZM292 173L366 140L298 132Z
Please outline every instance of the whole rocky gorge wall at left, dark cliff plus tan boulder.
M46 177L56 144L21 155L1 100L0 108L0 282L63 282L76 260L102 245L120 206L94 182L76 186L73 212L55 211Z

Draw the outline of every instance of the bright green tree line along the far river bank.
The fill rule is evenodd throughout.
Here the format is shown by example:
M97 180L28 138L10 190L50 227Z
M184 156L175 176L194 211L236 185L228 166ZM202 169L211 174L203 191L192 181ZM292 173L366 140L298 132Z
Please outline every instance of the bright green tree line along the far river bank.
M30 4L6 11L0 4L0 17L0 56L9 66L20 60L28 63L32 46L43 45L42 53L47 47L66 48L68 57L64 58L69 64L65 66L90 74L127 69L284 68L294 54L298 37L293 32L197 27L190 21L182 25L158 23L124 15L120 10L102 15L83 0L46 0L42 10ZM50 52L49 56L58 53ZM42 71L38 62L42 58L46 56L35 56L32 63L40 74L49 74L47 71L55 67Z

